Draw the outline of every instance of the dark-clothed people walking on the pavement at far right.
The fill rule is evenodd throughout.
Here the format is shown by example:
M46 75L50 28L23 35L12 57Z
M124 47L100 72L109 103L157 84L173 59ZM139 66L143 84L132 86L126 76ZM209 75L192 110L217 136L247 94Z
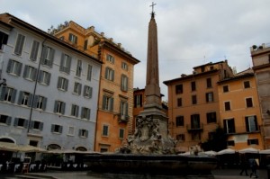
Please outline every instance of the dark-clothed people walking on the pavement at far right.
M258 175L257 175L258 165L259 165L258 161L254 157L251 157L247 160L245 155L241 155L240 156L240 167L241 167L240 175L243 175L243 173L245 172L246 175L248 176L247 168L249 166L251 169L251 173L250 173L249 177L251 178L251 176L255 175L255 177L257 178L258 177Z

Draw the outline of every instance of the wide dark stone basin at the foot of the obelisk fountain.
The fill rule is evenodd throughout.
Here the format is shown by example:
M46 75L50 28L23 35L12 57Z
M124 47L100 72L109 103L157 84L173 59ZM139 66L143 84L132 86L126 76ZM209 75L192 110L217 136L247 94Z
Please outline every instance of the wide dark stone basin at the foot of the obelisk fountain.
M88 155L84 163L95 173L211 175L217 158L178 155Z

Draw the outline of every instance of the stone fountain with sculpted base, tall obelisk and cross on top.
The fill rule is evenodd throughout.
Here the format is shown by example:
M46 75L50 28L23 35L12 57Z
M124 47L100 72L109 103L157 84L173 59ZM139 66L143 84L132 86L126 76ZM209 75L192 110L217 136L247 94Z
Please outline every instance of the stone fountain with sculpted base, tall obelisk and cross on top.
M152 4L148 25L148 63L144 110L136 118L136 130L114 154L85 156L92 172L129 175L201 175L211 177L214 157L179 156L175 139L168 135L167 117L161 111L158 76L157 23Z

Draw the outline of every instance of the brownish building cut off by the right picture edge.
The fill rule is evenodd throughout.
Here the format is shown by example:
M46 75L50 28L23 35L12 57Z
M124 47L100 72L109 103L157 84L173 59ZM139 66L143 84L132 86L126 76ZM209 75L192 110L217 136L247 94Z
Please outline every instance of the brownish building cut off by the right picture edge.
M263 120L265 148L270 148L270 46L252 46L250 48L253 70L257 79L260 111Z

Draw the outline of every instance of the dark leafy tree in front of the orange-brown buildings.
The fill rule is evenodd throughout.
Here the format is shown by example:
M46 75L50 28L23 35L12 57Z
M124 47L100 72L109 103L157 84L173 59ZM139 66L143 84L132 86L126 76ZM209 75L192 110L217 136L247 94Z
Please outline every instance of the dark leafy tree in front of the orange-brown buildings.
M218 126L217 129L213 132L212 138L202 142L201 148L204 151L220 151L227 148L227 139L227 133L222 128L220 128L220 126Z

